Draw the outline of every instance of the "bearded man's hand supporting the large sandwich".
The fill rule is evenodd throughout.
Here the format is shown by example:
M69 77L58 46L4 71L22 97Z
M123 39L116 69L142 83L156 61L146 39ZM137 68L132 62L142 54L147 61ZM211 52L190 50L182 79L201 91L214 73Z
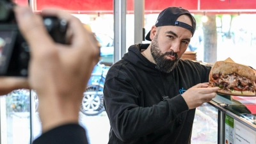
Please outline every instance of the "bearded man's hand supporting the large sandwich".
M220 90L220 88L207 88L208 85L209 83L196 84L182 94L189 109L201 106L204 102L209 102L212 98L216 97L216 92Z

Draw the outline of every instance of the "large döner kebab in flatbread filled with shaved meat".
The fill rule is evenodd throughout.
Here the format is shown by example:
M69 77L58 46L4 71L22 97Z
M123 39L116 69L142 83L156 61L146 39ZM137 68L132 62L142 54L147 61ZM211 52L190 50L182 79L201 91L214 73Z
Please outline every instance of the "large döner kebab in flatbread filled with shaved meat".
M252 68L239 63L217 61L209 74L209 87L218 86L219 93L255 95L255 74Z

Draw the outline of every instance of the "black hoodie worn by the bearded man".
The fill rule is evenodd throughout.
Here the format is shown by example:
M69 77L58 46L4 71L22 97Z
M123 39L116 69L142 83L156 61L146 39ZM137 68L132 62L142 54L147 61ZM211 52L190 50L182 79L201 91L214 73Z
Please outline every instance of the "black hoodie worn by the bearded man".
M210 68L179 60L172 72L160 72L141 54L147 47L129 47L106 76L109 143L190 143L195 109L188 109L180 94L208 82Z

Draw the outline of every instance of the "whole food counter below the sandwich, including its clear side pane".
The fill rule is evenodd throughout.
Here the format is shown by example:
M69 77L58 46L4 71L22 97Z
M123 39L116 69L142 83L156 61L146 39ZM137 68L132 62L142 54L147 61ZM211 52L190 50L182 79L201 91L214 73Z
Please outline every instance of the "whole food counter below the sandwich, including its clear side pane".
M256 97L217 94L196 108L191 144L256 144Z

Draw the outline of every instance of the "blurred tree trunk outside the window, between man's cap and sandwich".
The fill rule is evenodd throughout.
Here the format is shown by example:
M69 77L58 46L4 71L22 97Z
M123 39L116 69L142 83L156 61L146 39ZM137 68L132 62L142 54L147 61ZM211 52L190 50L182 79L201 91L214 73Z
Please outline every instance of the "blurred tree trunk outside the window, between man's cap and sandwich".
M207 17L207 22L203 22L204 61L207 63L215 63L217 61L216 16L207 15Z

